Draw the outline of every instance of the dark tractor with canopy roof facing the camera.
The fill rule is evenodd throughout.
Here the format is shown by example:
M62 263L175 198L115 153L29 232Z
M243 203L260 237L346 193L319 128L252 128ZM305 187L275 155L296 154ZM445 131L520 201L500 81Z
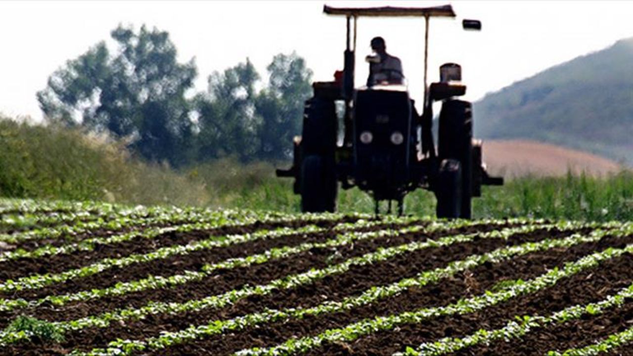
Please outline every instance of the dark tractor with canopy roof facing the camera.
M458 99L466 92L461 68L447 63L440 82L427 86L429 19L454 18L450 5L432 8L331 8L323 12L347 18L344 70L333 82L313 83L314 96L306 101L303 132L294 139L294 164L277 170L294 177L294 193L301 194L303 212L334 212L338 182L354 186L379 201L398 202L417 188L436 194L437 217L470 219L471 199L483 184L501 185L482 165L480 141L472 137L472 110ZM359 16L420 16L426 21L424 111L418 115L405 86L378 83L354 89L356 19ZM477 20L463 20L464 29L480 30ZM352 32L353 28L353 32ZM353 39L353 41L351 40ZM353 42L353 43L352 43ZM442 102L437 146L432 131L432 103ZM337 108L339 110L337 110ZM344 112L343 112L344 111ZM342 140L339 140L339 113ZM339 142L342 141L342 142Z

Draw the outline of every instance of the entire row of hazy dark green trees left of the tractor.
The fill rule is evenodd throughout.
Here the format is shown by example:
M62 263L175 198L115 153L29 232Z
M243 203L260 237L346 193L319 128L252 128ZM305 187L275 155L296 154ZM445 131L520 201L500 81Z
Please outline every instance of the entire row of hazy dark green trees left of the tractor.
M37 92L46 120L107 132L153 162L182 166L226 155L281 160L299 133L311 71L297 54L277 54L268 80L245 63L208 77L194 92L196 63L177 61L167 32L111 32L116 51L100 42L54 72Z

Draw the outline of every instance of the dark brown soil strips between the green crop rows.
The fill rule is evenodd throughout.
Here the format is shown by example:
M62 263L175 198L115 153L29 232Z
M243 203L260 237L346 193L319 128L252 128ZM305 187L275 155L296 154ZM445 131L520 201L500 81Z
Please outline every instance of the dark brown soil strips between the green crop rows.
M309 223L309 222L308 222ZM336 222L325 222L322 226L331 229ZM298 222L296 227L303 226ZM289 226L287 223L283 226ZM292 225L290 225L292 226ZM249 226L250 227L250 226ZM275 226L277 227L277 226ZM390 226L372 227L369 230L384 229ZM398 228L401 226L393 226ZM95 315L101 312L123 307L139 307L150 300L163 302L184 302L205 296L218 295L231 289L240 288L245 284L265 284L272 279L304 272L311 268L323 268L329 264L336 264L343 260L375 251L379 247L401 245L410 241L423 241L427 238L437 239L441 236L458 232L490 231L505 226L475 226L460 231L439 232L429 235L407 234L396 238L378 238L360 241L353 245L340 246L333 249L313 249L289 258L252 265L247 268L232 270L218 270L213 276L203 281L188 283L177 288L168 288L125 296L100 298L89 302L70 303L64 307L41 305L33 310L17 310L15 312L0 312L0 327L6 326L16 315L34 315L41 319L63 321L76 319L85 315ZM254 229L274 228L272 226L255 227ZM226 228L229 229L229 228ZM215 230L214 230L215 231ZM254 230L251 230L254 231ZM251 232L244 231L244 232ZM588 232L584 230L582 232ZM198 231L187 234L165 234L159 240L165 245L143 245L145 241L135 239L118 245L123 255L130 253L144 253L160 246L184 244L197 239L208 238L210 234L233 234L242 232L211 232ZM294 246L308 241L323 241L334 236L334 231L317 234L297 234L284 238L266 239L253 243L244 243L227 248L210 251L197 251L189 255L177 256L166 260L157 260L142 264L134 264L124 269L110 269L95 276L76 279L68 283L49 286L35 291L22 291L13 295L0 297L41 298L45 295L72 293L84 289L104 288L118 281L131 281L146 277L148 274L169 276L184 270L199 270L202 265L219 262L226 258L243 257L254 253L261 253L273 247ZM540 241L544 238L562 238L572 232L537 231L521 234L509 241L501 239L478 239L473 243L460 243L442 248L406 253L404 256L392 258L385 262L371 266L354 266L348 272L327 277L309 286L301 286L292 290L275 291L267 296L253 296L236 302L234 305L220 309L203 310L184 315L149 315L139 321L117 322L106 328L90 328L66 335L61 344L32 340L0 348L0 355L60 355L75 348L90 350L103 347L110 340L116 338L139 339L156 336L161 331L183 329L191 324L204 324L215 319L230 319L237 315L263 310L263 308L311 307L324 300L337 301L346 296L358 295L370 286L384 285L406 277L412 277L422 270L444 267L449 262L460 260L468 255L486 253L500 246L515 245L526 241ZM165 242L163 242L165 241ZM180 242L176 242L180 241ZM155 242L155 241L154 241ZM608 247L624 247L633 243L633 236L627 238L604 238L597 243L586 243L569 249L555 249L530 253L523 257L499 264L484 264L475 269L446 279L439 284L425 288L411 288L387 300L372 305L354 308L347 312L336 314L305 317L300 320L272 322L267 325L236 331L223 335L210 336L204 340L175 345L167 350L159 350L151 355L227 355L242 348L254 346L273 346L292 337L315 335L327 329L342 327L362 319L373 318L377 315L398 314L404 311L416 310L424 307L442 306L454 303L460 298L480 295L484 291L494 288L500 281L513 279L530 279L544 273L553 267L561 267L565 262L577 260L593 251L601 251ZM105 250L66 255L69 260L47 261L51 270L66 270L82 266L104 257L115 257L116 249L110 246ZM146 250L144 250L146 249ZM92 255L91 255L92 253ZM108 255L113 253L113 255ZM81 258L84 262L81 263ZM41 262L39 262L41 263ZM60 267L66 266L66 267ZM70 267L69 267L70 266ZM0 265L0 271L4 268ZM47 269L48 271L48 269ZM406 346L417 346L425 341L437 340L447 336L460 337L472 334L478 329L496 329L505 326L506 322L515 315L540 314L548 315L562 308L579 303L596 302L605 296L617 293L620 289L633 282L633 256L624 255L615 260L603 262L598 268L581 272L576 276L563 279L555 286L534 293L514 298L506 303L487 308L481 312L468 315L453 315L430 319L421 324L404 324L392 331L374 333L350 343L325 343L311 350L308 355L391 355L403 351ZM2 272L0 272L2 273ZM31 272L32 273L32 272ZM38 272L41 273L41 272ZM16 276L24 276L24 272ZM1 274L0 274L1 276ZM470 348L456 355L542 355L549 350L564 350L565 348L589 345L592 341L604 338L608 334L623 331L633 323L633 300L623 308L610 310L606 314L586 317L579 321L568 322L558 326L550 326L534 331L522 340L494 343L490 346ZM145 353L144 353L145 354ZM611 355L631 355L628 348L620 348Z

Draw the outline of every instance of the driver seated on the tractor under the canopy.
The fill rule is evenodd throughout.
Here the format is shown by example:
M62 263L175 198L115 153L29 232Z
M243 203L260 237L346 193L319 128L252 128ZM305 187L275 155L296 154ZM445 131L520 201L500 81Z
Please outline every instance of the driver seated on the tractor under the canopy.
M387 53L385 40L382 37L373 37L371 46L376 55L367 56L369 62L367 86L375 86L381 82L402 84L404 79L402 63L398 57Z

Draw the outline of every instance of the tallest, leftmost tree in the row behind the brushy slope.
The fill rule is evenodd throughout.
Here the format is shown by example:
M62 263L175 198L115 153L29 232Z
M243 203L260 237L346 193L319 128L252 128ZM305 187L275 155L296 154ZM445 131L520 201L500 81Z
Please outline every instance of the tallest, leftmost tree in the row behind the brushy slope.
M49 77L37 99L48 120L131 137L149 160L186 163L191 155L191 107L185 92L196 65L178 63L169 34L118 26L111 56L101 42Z

